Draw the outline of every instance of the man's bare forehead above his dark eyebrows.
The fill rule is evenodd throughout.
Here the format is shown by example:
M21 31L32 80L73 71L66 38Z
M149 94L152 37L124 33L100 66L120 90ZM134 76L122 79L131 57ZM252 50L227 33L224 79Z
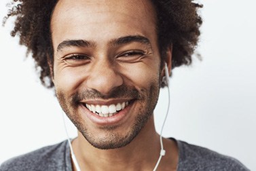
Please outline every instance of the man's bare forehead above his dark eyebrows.
M60 0L51 20L53 44L63 39L147 35L155 27L155 10L147 0Z

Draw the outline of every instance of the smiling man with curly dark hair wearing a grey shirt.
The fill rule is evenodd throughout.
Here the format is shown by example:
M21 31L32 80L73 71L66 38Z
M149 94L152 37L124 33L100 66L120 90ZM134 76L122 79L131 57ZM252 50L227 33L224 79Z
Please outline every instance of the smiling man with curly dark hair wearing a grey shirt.
M78 136L6 161L0 170L247 170L208 149L164 138L153 110L163 77L191 62L202 23L191 1L21 1L20 35ZM45 81L50 78L50 82ZM162 152L162 151L161 151ZM78 166L76 166L76 163Z

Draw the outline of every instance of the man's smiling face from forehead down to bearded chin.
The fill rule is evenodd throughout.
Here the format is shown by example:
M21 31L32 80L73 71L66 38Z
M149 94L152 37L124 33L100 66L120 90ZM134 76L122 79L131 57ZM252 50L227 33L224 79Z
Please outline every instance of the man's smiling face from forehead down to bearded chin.
M91 145L127 145L153 117L160 88L149 1L60 0L51 21L54 85Z

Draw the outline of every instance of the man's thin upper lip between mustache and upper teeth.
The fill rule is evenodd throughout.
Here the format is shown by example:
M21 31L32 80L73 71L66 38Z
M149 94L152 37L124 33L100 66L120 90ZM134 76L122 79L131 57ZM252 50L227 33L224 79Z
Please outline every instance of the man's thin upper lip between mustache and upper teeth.
M122 103L122 102L128 102L131 101L132 99L129 98L119 98L119 99L109 99L109 100L101 100L101 99L95 99L95 100L81 100L81 103L86 103L86 104L98 104L98 105L110 105L110 104L117 104L117 103Z

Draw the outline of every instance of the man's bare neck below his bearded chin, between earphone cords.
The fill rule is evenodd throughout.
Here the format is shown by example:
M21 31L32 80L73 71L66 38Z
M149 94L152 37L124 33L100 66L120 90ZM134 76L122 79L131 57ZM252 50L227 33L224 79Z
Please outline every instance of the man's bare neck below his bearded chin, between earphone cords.
M80 132L72 144L81 170L153 170L160 155L160 136L153 116L125 147L96 149Z

